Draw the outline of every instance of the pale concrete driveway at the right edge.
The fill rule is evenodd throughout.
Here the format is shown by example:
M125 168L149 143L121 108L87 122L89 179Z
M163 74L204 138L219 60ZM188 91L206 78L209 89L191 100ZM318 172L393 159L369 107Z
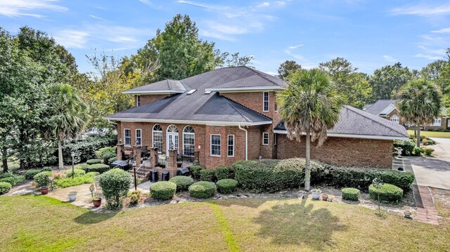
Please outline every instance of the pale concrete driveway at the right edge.
M418 185L450 190L450 138L432 138L435 157L409 157Z

